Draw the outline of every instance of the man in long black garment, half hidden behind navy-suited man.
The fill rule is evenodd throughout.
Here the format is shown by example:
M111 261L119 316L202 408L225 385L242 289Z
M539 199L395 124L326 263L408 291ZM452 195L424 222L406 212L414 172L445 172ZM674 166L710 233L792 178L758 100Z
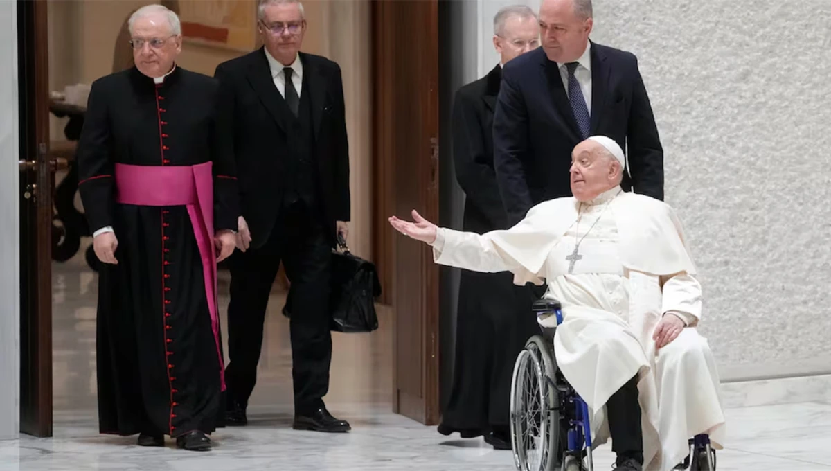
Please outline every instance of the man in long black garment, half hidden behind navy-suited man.
M456 91L453 105L453 159L456 179L465 191L463 229L475 233L508 228L494 174L494 106L502 66L539 47L536 13L524 5L500 9L494 17L494 47L499 64ZM484 435L495 449L511 449L514 359L525 341L539 333L529 295L524 287L514 287L510 273L462 270L453 385L442 411L440 434Z

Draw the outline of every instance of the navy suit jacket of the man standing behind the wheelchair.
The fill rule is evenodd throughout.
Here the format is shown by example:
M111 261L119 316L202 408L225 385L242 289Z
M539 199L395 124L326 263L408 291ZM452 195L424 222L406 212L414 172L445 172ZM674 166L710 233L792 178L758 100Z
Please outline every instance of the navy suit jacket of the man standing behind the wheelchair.
M662 200L663 149L637 58L592 43L591 59L589 134L606 135L627 152L623 189ZM581 140L557 63L543 48L505 64L494 113L494 165L509 223L534 204L571 195L568 169Z

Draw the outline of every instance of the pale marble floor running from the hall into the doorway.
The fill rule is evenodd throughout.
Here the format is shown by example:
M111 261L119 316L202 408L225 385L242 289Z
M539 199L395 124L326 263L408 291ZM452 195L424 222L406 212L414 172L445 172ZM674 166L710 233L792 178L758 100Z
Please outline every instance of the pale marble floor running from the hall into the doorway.
M220 292L227 293L227 276ZM0 471L147 469L212 471L514 469L510 452L480 439L444 437L435 428L391 413L391 312L371 335L336 335L327 403L349 419L350 434L291 429L291 351L283 297L269 307L259 383L248 427L221 429L209 454L143 449L135 438L97 434L95 379L96 276L81 258L54 265L56 426L52 439L0 442ZM221 298L223 310L227 297ZM831 405L804 403L727 410L729 442L720 470L831 470ZM595 454L596 469L610 469L608 446Z

